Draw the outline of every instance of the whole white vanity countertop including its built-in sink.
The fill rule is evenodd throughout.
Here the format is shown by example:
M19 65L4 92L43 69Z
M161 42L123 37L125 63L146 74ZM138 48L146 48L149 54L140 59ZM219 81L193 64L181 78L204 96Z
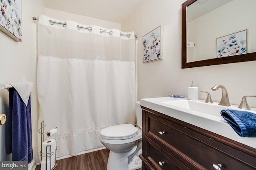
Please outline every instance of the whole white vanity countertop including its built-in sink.
M142 107L256 148L256 138L240 137L220 115L222 109L256 113L256 108L251 107L250 110L246 110L239 109L237 105L220 106L218 104L219 102L208 104L204 100L188 100L187 98L162 97L140 99Z

